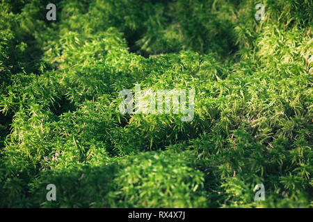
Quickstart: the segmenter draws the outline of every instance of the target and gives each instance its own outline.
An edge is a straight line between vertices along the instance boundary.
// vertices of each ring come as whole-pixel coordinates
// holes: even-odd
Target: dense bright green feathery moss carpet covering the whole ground
[[[312,207],[312,15],[312,0],[0,1],[0,207]],[[120,114],[136,83],[194,88],[193,121]]]

